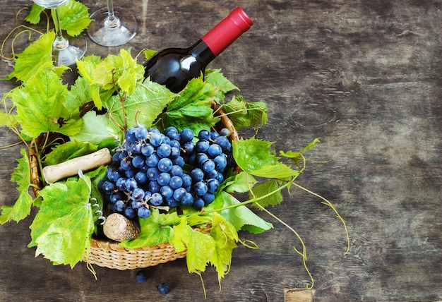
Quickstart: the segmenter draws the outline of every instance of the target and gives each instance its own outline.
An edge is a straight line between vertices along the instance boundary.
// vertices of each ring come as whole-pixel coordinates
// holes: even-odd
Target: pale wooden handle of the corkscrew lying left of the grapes
[[[78,170],[89,171],[112,162],[112,155],[107,148],[103,148],[88,155],[69,159],[60,164],[43,168],[43,178],[46,183],[54,183],[60,179],[74,176]]]

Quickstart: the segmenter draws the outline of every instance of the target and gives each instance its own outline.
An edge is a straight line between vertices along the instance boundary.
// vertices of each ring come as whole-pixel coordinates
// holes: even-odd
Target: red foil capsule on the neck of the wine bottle
[[[224,20],[205,34],[201,40],[207,44],[213,54],[217,56],[229,47],[244,32],[249,30],[253,21],[241,8],[236,8]]]

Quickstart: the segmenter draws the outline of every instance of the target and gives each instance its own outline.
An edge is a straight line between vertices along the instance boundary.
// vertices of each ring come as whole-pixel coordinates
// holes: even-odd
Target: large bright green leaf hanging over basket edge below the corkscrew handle
[[[52,183],[40,191],[43,202],[30,226],[32,241],[28,245],[37,246],[36,257],[42,254],[54,265],[71,267],[83,260],[94,231],[90,193],[88,176]]]

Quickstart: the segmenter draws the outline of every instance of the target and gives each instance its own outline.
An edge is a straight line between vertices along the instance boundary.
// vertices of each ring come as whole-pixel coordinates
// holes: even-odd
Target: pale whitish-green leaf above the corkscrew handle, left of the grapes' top
[[[89,111],[83,116],[83,127],[76,135],[72,135],[72,140],[80,140],[99,145],[104,140],[118,138],[117,133],[111,133],[109,127],[109,118],[105,115],[97,114],[95,111]]]

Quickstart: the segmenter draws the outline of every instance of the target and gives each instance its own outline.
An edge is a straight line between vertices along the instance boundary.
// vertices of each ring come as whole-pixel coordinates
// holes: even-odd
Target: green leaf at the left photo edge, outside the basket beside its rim
[[[32,206],[32,197],[28,193],[30,186],[30,166],[29,158],[24,148],[20,150],[23,156],[17,159],[18,165],[11,174],[11,181],[16,182],[18,187],[18,199],[13,206],[4,205],[1,207],[0,224],[4,224],[11,220],[19,222],[30,214]]]

